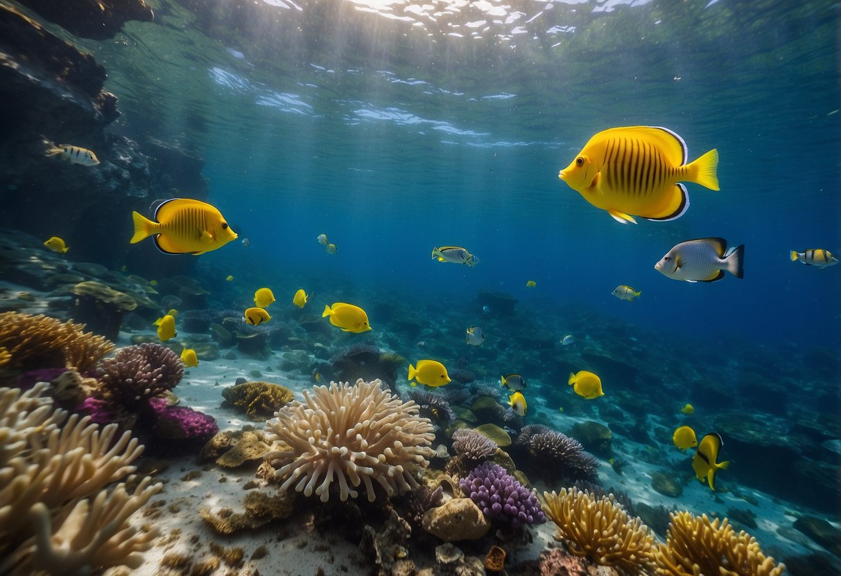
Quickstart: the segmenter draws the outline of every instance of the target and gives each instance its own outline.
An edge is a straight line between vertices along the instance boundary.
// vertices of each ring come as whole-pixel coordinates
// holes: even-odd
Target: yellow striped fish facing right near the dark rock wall
[[[161,202],[155,220],[132,212],[135,235],[131,243],[155,236],[157,249],[164,254],[204,254],[236,239],[225,217],[215,207],[189,198],[172,198]]]

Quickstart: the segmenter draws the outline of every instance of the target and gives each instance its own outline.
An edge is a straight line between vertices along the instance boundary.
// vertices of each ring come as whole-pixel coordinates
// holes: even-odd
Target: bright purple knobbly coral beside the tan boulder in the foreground
[[[537,496],[499,464],[480,464],[458,486],[489,518],[510,522],[515,527],[546,521]]]

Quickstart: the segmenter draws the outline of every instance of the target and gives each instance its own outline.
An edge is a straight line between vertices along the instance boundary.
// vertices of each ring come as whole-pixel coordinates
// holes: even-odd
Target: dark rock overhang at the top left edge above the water
[[[154,19],[152,9],[143,0],[21,0],[20,3],[68,32],[94,40],[114,38],[129,20],[151,22]]]

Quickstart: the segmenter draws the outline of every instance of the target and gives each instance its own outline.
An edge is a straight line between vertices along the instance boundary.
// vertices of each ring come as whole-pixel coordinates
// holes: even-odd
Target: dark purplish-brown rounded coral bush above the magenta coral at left
[[[184,375],[177,353],[156,343],[119,348],[99,369],[98,395],[129,411],[147,410],[148,401],[172,390]]]

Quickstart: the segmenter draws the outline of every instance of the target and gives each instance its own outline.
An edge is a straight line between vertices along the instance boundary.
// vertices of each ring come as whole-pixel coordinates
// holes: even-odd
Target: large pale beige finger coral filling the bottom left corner
[[[39,383],[0,388],[0,573],[89,573],[138,568],[156,531],[130,516],[161,490],[142,479],[124,484],[143,450],[130,432],[100,429],[88,417],[54,409]]]

